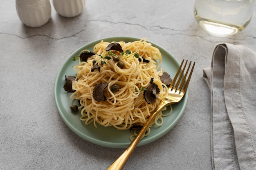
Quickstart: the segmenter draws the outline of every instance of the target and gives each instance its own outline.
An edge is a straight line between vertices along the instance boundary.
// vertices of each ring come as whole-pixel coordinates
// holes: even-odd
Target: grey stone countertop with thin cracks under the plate
[[[86,0],[83,13],[65,18],[52,7],[47,24],[22,24],[14,0],[0,0],[0,169],[104,170],[124,148],[90,143],[61,119],[54,82],[67,57],[105,37],[146,37],[177,61],[196,62],[180,121],[163,137],[135,149],[125,170],[211,169],[211,98],[202,69],[216,44],[256,50],[256,15],[237,35],[214,37],[195,21],[194,1]],[[255,14],[255,13],[254,13]]]

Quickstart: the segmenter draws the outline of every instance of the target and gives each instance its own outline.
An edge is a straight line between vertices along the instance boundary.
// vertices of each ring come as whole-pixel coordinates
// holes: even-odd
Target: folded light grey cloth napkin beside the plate
[[[256,52],[218,44],[211,68],[211,156],[216,170],[256,169]]]

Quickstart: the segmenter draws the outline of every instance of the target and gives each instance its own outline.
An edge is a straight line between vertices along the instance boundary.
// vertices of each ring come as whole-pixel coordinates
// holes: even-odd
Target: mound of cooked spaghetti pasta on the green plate
[[[77,76],[72,84],[75,92],[71,98],[80,101],[80,119],[85,124],[93,123],[95,127],[97,124],[114,126],[122,130],[130,129],[133,125],[143,126],[150,113],[167,95],[167,87],[159,77],[163,69],[158,71],[162,55],[159,49],[146,41],[146,38],[129,43],[118,42],[124,51],[128,51],[127,53],[106,51],[108,44],[110,43],[104,41],[96,44],[93,49],[95,55],[74,67]],[[119,62],[124,64],[123,68],[109,56],[118,56]],[[143,59],[148,62],[143,62]],[[99,69],[92,71],[94,65],[98,65]],[[150,85],[152,77],[153,83],[159,88],[159,95],[155,102],[149,104],[144,98],[143,91]],[[107,83],[104,90],[106,100],[103,101],[97,101],[93,97],[95,86],[99,83]],[[118,89],[112,92],[111,88],[114,85],[117,85]],[[160,112],[150,126],[161,126],[162,116],[168,114],[162,115]]]

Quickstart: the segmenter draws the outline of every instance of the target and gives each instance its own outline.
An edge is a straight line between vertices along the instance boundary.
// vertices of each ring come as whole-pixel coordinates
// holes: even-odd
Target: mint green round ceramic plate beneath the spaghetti
[[[73,67],[78,63],[78,61],[72,61],[73,57],[77,56],[77,53],[79,53],[81,50],[93,50],[94,45],[99,43],[101,40],[106,42],[132,42],[137,41],[139,39],[133,37],[110,37],[86,44],[85,46],[76,50],[63,63],[61,69],[59,70],[56,76],[56,81],[54,84],[54,98],[56,102],[56,107],[65,124],[67,124],[67,126],[81,138],[101,146],[112,148],[126,148],[130,144],[130,135],[132,135],[132,133],[130,133],[130,130],[117,130],[114,127],[103,127],[101,125],[98,125],[98,128],[95,128],[93,124],[84,125],[84,123],[81,122],[79,119],[79,112],[74,114],[70,110],[70,106],[73,103],[76,103],[76,101],[71,100],[71,93],[67,93],[63,89],[63,86],[65,84],[65,75],[76,76],[76,72],[73,70]],[[157,47],[162,53],[162,63],[160,65],[160,68],[164,68],[166,72],[168,72],[173,78],[175,76],[175,73],[177,72],[177,69],[179,68],[180,63],[178,63],[177,60],[169,52],[164,50],[164,48],[152,42],[150,43],[153,46]],[[173,111],[171,115],[163,118],[163,125],[153,126],[151,128],[150,134],[147,137],[141,139],[139,146],[153,142],[156,139],[159,139],[160,137],[165,135],[168,131],[170,131],[175,126],[175,124],[177,124],[177,122],[180,120],[186,107],[187,100],[188,92],[186,92],[181,102],[172,105]]]

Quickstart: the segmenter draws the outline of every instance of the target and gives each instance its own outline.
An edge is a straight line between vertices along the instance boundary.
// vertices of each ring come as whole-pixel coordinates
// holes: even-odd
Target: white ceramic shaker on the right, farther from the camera
[[[57,13],[63,17],[75,17],[83,12],[85,0],[52,0]]]

